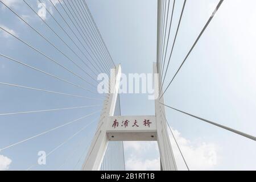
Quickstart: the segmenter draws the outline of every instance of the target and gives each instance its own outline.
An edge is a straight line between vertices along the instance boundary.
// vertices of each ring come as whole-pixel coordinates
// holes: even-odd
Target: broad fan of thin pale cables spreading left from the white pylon
[[[85,141],[88,140],[89,131],[92,131],[89,127],[94,127],[92,126],[93,122],[102,119],[99,119],[98,115],[100,115],[101,109],[105,109],[103,105],[104,95],[97,92],[97,84],[99,82],[97,76],[100,73],[110,75],[110,69],[115,68],[114,61],[85,1],[36,1],[36,3],[40,3],[46,10],[47,18],[44,18],[38,13],[38,9],[35,8],[35,2],[22,0],[19,3],[23,9],[26,9],[28,14],[33,16],[34,22],[20,14],[20,11],[15,9],[14,6],[11,6],[6,1],[0,0],[0,5],[5,8],[5,13],[8,13],[9,18],[13,18],[13,22],[18,22],[16,24],[22,26],[18,34],[16,34],[6,26],[3,26],[3,24],[0,24],[0,33],[5,34],[6,38],[13,40],[15,46],[18,47],[16,48],[16,54],[11,54],[9,50],[4,51],[5,49],[1,49],[0,61],[5,64],[13,64],[20,71],[23,71],[24,73],[20,74],[20,78],[26,75],[25,73],[28,71],[36,74],[35,77],[48,79],[49,82],[47,80],[43,84],[35,86],[36,84],[34,82],[26,82],[26,79],[23,79],[24,81],[20,84],[18,83],[20,78],[16,80],[12,79],[12,81],[2,81],[11,80],[7,77],[5,78],[4,75],[0,81],[1,90],[6,91],[5,93],[9,90],[14,90],[15,92],[21,91],[22,93],[27,93],[28,99],[30,96],[37,96],[38,98],[42,97],[44,101],[48,100],[48,98],[51,100],[52,97],[57,97],[61,98],[61,101],[57,102],[57,104],[60,103],[60,106],[52,100],[51,102],[42,101],[43,104],[47,103],[44,106],[40,106],[40,103],[35,103],[36,101],[28,101],[37,107],[24,110],[13,108],[12,110],[0,111],[0,127],[5,127],[3,123],[6,118],[19,118],[20,115],[30,117],[30,115],[41,114],[40,117],[42,117],[42,115],[47,114],[57,115],[60,112],[67,114],[73,111],[76,113],[76,116],[73,116],[74,119],[71,115],[71,119],[65,121],[66,119],[63,114],[63,118],[60,118],[61,121],[63,120],[62,123],[59,122],[57,124],[55,122],[48,123],[46,119],[47,127],[45,129],[40,130],[37,128],[28,130],[27,135],[24,135],[22,131],[18,131],[18,134],[20,133],[21,135],[17,134],[15,138],[11,138],[10,143],[5,143],[5,146],[0,145],[0,152],[2,154],[2,152],[16,150],[16,147],[22,146],[23,144],[32,144],[33,140],[38,140],[39,138],[40,140],[44,139],[44,144],[46,144],[49,143],[47,141],[49,134],[58,135],[57,131],[70,129],[68,130],[70,133],[69,138],[63,139],[66,137],[63,135],[68,135],[68,133],[57,136],[62,142],[47,151],[47,158],[50,155],[56,155],[61,148],[71,145],[71,142],[81,137],[78,139],[76,147],[71,150],[63,160],[63,163],[57,168],[62,169],[67,167],[73,156],[76,153],[80,154],[82,152],[75,166],[70,166],[73,169],[79,169],[77,167],[81,165],[81,161],[89,146],[89,142]],[[36,23],[40,25],[38,26]],[[28,39],[27,33],[31,33],[30,36],[32,39]],[[23,49],[19,50],[19,46],[26,48],[27,52],[20,51]],[[34,61],[31,61],[30,55],[34,56]],[[16,59],[15,56],[19,56],[19,58]],[[56,67],[57,71],[52,71],[51,67]],[[10,71],[15,72],[15,70]],[[31,75],[30,77],[33,76]],[[40,82],[42,80],[36,81]],[[59,86],[59,84],[61,85]],[[54,88],[51,88],[52,85]],[[9,104],[13,106],[17,105],[15,100],[11,100],[11,102]],[[55,106],[52,106],[52,103],[55,103]],[[3,102],[2,104],[5,103]],[[63,106],[61,104],[65,105]],[[20,120],[20,122],[24,122],[24,125],[26,125],[26,121]],[[27,127],[30,128],[30,126]],[[76,130],[75,127],[78,127],[79,130]],[[121,153],[120,147],[122,147],[122,143],[119,142],[110,144],[111,160],[115,160],[114,155],[117,152],[118,154],[120,153],[120,156],[123,154]],[[120,160],[123,161],[123,159]],[[117,161],[115,162],[118,163]],[[39,167],[36,161],[32,163],[34,164],[28,166],[27,169],[37,169]],[[112,165],[111,168],[118,169],[117,167]]]

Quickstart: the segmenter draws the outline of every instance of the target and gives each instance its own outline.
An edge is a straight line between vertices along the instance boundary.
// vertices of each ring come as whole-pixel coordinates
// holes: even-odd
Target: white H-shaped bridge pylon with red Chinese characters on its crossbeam
[[[158,73],[156,63],[153,65],[154,73]],[[154,76],[155,115],[114,116],[115,105],[118,97],[119,82],[121,79],[121,65],[115,68],[113,77],[113,92],[108,94],[104,101],[100,121],[90,145],[82,170],[100,170],[102,160],[109,141],[157,141],[160,154],[160,165],[164,171],[177,170],[174,153],[164,120],[165,112],[159,103],[159,77]],[[110,81],[110,82],[111,82]],[[111,84],[110,84],[111,85]]]

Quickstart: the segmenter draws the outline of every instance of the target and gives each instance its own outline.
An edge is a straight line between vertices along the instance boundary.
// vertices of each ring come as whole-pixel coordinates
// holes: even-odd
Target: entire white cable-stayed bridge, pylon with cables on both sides
[[[39,72],[40,74],[46,75],[47,77],[54,78],[60,82],[64,82],[65,84],[72,85],[76,88],[84,90],[88,93],[86,96],[66,93],[66,92],[57,92],[55,90],[47,90],[43,88],[34,88],[26,85],[18,85],[9,82],[0,82],[1,86],[7,86],[11,88],[18,88],[24,90],[32,90],[34,92],[43,92],[47,94],[56,94],[67,97],[75,97],[81,98],[85,100],[93,100],[101,102],[100,104],[94,103],[93,105],[86,106],[75,106],[75,107],[63,107],[63,108],[55,108],[55,109],[44,109],[44,110],[27,110],[27,111],[17,111],[13,113],[2,113],[1,117],[8,117],[11,115],[20,115],[20,114],[31,114],[31,113],[48,113],[55,111],[66,111],[73,109],[85,109],[91,107],[101,107],[101,109],[94,110],[92,113],[86,114],[83,117],[77,118],[75,120],[66,122],[59,126],[49,128],[46,131],[42,131],[38,134],[31,135],[30,137],[20,139],[14,143],[9,143],[6,146],[0,146],[0,154],[7,150],[11,150],[15,146],[20,146],[23,143],[27,143],[30,140],[34,140],[36,138],[42,137],[48,133],[52,133],[52,131],[59,130],[65,126],[69,126],[73,123],[81,121],[83,119],[88,119],[86,125],[84,125],[81,129],[79,129],[75,134],[71,135],[68,139],[61,142],[55,148],[52,148],[51,151],[47,152],[45,158],[48,158],[52,155],[56,150],[58,150],[61,146],[69,142],[76,135],[81,133],[89,133],[89,131],[85,131],[88,129],[92,123],[97,123],[96,131],[93,133],[93,139],[85,148],[82,155],[79,157],[79,160],[76,162],[76,167],[80,166],[79,169],[82,170],[124,170],[125,169],[125,159],[123,154],[123,141],[157,141],[159,147],[160,154],[160,167],[162,170],[177,170],[176,161],[174,152],[172,151],[172,146],[174,144],[179,148],[179,152],[184,160],[185,166],[189,170],[189,165],[185,160],[185,156],[179,147],[179,143],[175,139],[175,135],[172,131],[170,124],[166,119],[166,108],[176,110],[179,113],[183,113],[185,115],[189,115],[190,117],[199,119],[199,121],[206,122],[209,125],[220,127],[223,130],[232,132],[234,134],[241,135],[250,140],[256,140],[256,137],[253,135],[249,135],[243,133],[242,131],[238,131],[232,129],[228,126],[220,125],[217,122],[209,121],[208,119],[204,119],[201,117],[197,117],[196,115],[187,113],[185,111],[176,109],[168,104],[164,103],[164,94],[170,88],[172,82],[175,80],[176,75],[179,74],[180,69],[183,67],[185,61],[187,61],[190,53],[195,48],[196,44],[199,42],[201,36],[204,34],[204,31],[207,29],[208,25],[214,18],[214,15],[220,9],[224,0],[221,0],[217,3],[216,8],[214,9],[212,15],[210,15],[208,21],[205,23],[205,26],[201,30],[200,34],[197,36],[197,39],[193,43],[191,49],[187,55],[185,55],[183,62],[180,64],[180,67],[175,72],[175,75],[171,78],[167,77],[167,71],[170,67],[170,60],[172,57],[172,52],[175,47],[175,42],[177,38],[177,34],[179,32],[179,27],[182,22],[183,13],[185,10],[187,0],[184,0],[183,8],[181,10],[179,16],[179,22],[176,28],[174,42],[171,44],[170,42],[170,31],[172,27],[172,18],[175,13],[175,0],[158,0],[158,22],[157,22],[157,45],[156,45],[156,63],[152,65],[152,72],[157,76],[154,78],[154,89],[155,89],[155,115],[130,115],[125,116],[121,114],[120,101],[119,101],[119,82],[121,78],[121,65],[117,65],[114,63],[112,56],[106,47],[104,39],[102,38],[100,31],[97,27],[96,22],[94,22],[93,16],[90,13],[89,7],[86,4],[85,0],[57,0],[52,1],[51,7],[55,10],[56,14],[58,14],[59,18],[52,13],[45,3],[39,0],[41,3],[41,7],[49,14],[50,18],[55,22],[55,26],[59,27],[59,31],[61,31],[61,36],[59,32],[51,26],[51,24],[47,23],[47,21],[40,16],[33,6],[30,5],[26,0],[23,0],[25,6],[28,7],[31,11],[33,11],[38,19],[42,21],[42,23],[48,28],[48,31],[56,36],[57,39],[61,43],[64,44],[65,48],[73,53],[73,57],[69,56],[67,52],[63,51],[61,47],[57,46],[55,42],[52,42],[51,39],[48,39],[42,32],[40,32],[36,27],[34,27],[30,22],[28,22],[22,15],[19,15],[13,7],[9,6],[3,0],[0,0],[0,4],[4,6],[10,13],[13,13],[20,22],[30,28],[31,31],[34,31],[37,36],[43,39],[45,43],[47,43],[51,48],[58,52],[60,55],[64,56],[70,64],[73,65],[73,68],[69,68],[64,65],[60,60],[53,58],[47,52],[42,51],[40,48],[36,48],[34,44],[28,43],[26,40],[23,40],[19,36],[15,35],[12,31],[8,30],[6,27],[0,24],[0,31],[4,32],[6,35],[13,38],[15,41],[22,43],[24,46],[31,49],[31,51],[38,53],[38,55],[44,57],[45,60],[51,62],[52,64],[57,65],[65,72],[68,72],[73,77],[79,79],[81,82],[86,84],[86,86],[82,86],[77,84],[76,82],[69,81],[66,78],[57,76],[53,73],[49,73],[46,70],[34,67],[30,64],[25,63],[22,60],[14,59],[8,55],[0,53],[1,60],[11,61],[13,63],[19,64],[22,67],[26,67],[27,69],[31,69],[35,72]],[[65,25],[63,26],[62,23]],[[73,49],[70,44],[72,43]],[[171,46],[170,54],[167,53],[167,48]],[[86,60],[86,61],[85,61]],[[79,63],[79,64],[78,64]],[[83,66],[81,66],[83,65]],[[110,70],[114,69],[114,74],[110,74]],[[79,72],[79,73],[77,73]],[[79,71],[78,71],[79,70]],[[83,73],[84,76],[81,76]],[[96,94],[93,90],[96,88],[98,84],[97,75],[99,73],[107,73],[110,76],[110,82],[114,83],[114,92],[107,93],[105,96],[99,96],[98,98],[93,97],[93,94]],[[112,76],[112,77],[111,77]],[[168,82],[167,87],[164,88],[164,83]],[[111,84],[110,84],[111,85]],[[93,88],[93,89],[92,89]],[[94,95],[95,96],[95,95]],[[98,103],[97,102],[97,103]],[[90,118],[93,115],[100,113],[99,117],[94,119]],[[87,120],[86,120],[87,121]],[[169,133],[174,137],[175,143],[170,142]],[[86,139],[86,137],[84,137]],[[78,146],[84,145],[84,140],[81,140]],[[67,156],[68,159],[76,152],[76,147],[73,148],[71,154]],[[61,167],[67,160],[64,160]],[[34,169],[38,164],[32,164],[27,169]],[[76,167],[74,169],[76,169]],[[58,169],[59,169],[58,168]]]

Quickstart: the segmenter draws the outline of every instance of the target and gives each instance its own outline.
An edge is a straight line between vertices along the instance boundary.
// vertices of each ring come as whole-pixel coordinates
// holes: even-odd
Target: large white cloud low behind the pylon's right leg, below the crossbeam
[[[213,143],[191,142],[181,137],[177,130],[173,130],[177,143],[191,170],[208,170],[217,165],[217,147]],[[183,159],[170,134],[177,168],[186,170]],[[156,142],[125,142],[127,170],[160,170],[158,144]],[[158,154],[158,155],[157,155]]]

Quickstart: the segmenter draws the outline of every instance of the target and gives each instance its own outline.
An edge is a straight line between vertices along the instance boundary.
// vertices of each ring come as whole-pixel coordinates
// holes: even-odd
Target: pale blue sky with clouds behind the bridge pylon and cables
[[[44,32],[44,36],[65,50],[65,53],[72,59],[79,61],[78,57],[60,42],[23,1],[3,2],[22,15],[37,30]],[[38,10],[35,1],[27,2]],[[114,62],[121,64],[122,72],[126,74],[152,73],[152,63],[156,61],[157,1],[86,0],[86,3]],[[217,3],[216,0],[187,1],[164,88],[179,68]],[[59,4],[56,5],[60,7]],[[174,40],[182,5],[183,1],[176,1],[170,44]],[[255,5],[256,2],[253,0],[225,0],[222,3],[221,8],[164,95],[164,102],[167,105],[244,133],[256,135],[254,51],[256,13],[253,9]],[[51,7],[51,4],[46,2],[46,6],[52,9],[53,15],[57,16],[57,12]],[[90,77],[75,67],[67,57],[57,52],[2,5],[0,15],[1,27],[46,52],[65,67],[83,75],[86,80],[90,80]],[[56,28],[59,36],[64,37],[65,41],[72,44],[49,15],[46,14],[46,17],[43,18]],[[61,17],[57,16],[57,18],[61,20]],[[64,24],[64,22],[62,23]],[[65,24],[64,27],[68,30]],[[70,33],[72,34],[72,32]],[[3,31],[0,31],[0,40],[4,43],[0,44],[1,54],[90,88],[90,85],[80,78],[64,71]],[[75,45],[72,44],[72,47],[79,52]],[[170,48],[168,48],[168,52],[170,52]],[[83,56],[81,53],[79,55]],[[3,57],[0,57],[0,61],[0,82],[103,98],[42,75],[42,73],[31,71],[31,69],[24,68]],[[79,65],[82,63],[79,62]],[[85,65],[82,66],[90,74],[93,74],[92,70],[86,68]],[[121,94],[120,101],[122,115],[155,114],[154,101],[148,100],[147,94]],[[101,101],[98,100],[38,93],[6,85],[0,85],[0,102],[0,113],[101,104]],[[98,110],[101,110],[100,106],[49,113],[0,116],[0,148]],[[256,169],[254,152],[256,143],[252,140],[168,108],[166,108],[166,113],[190,169]],[[92,115],[76,124],[1,151],[0,169],[27,169],[36,163],[39,150],[51,151],[97,117],[98,114]],[[70,166],[79,169],[80,158],[86,150],[85,144],[81,145],[80,143],[89,144],[89,140],[83,139],[85,137],[92,138],[94,130],[90,129],[95,129],[96,125],[97,122],[92,123],[92,126],[85,129],[86,132],[78,134],[72,141],[52,153],[46,166],[34,166],[32,169],[56,169],[60,166],[62,166],[61,169],[70,169]],[[172,137],[170,138],[177,167],[185,170],[175,142]],[[74,147],[78,148],[76,155],[72,156],[72,160],[68,159],[63,164],[63,158],[66,158]],[[126,169],[160,169],[156,142],[125,142],[125,159]],[[78,162],[79,164],[77,164]]]

